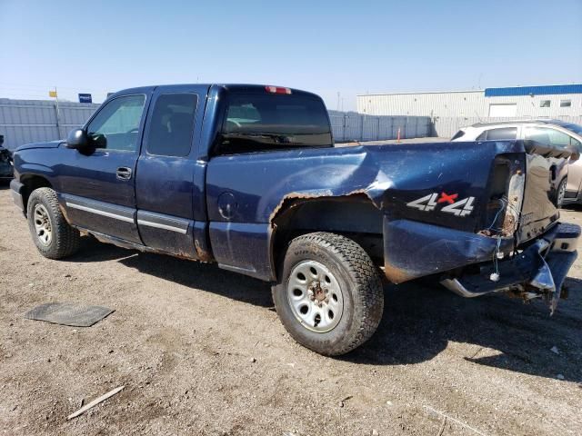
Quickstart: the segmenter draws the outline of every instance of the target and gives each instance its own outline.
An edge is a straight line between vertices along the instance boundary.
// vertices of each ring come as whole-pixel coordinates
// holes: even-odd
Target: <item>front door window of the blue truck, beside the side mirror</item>
[[[135,152],[146,95],[125,95],[105,104],[87,126],[95,148]]]

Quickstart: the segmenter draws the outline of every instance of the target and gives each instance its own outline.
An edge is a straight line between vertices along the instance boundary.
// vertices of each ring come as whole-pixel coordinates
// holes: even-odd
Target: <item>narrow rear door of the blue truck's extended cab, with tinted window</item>
[[[203,194],[196,189],[196,140],[202,127],[206,86],[156,88],[137,163],[137,225],[143,243],[197,259],[197,238],[206,238]],[[204,174],[200,177],[204,183]],[[204,246],[204,244],[203,244]]]

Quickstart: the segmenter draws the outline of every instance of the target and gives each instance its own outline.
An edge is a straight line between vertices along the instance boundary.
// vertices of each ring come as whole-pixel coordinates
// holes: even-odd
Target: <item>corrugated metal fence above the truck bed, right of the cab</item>
[[[378,141],[430,136],[428,116],[376,116],[356,112],[329,111],[334,139],[342,141]]]

